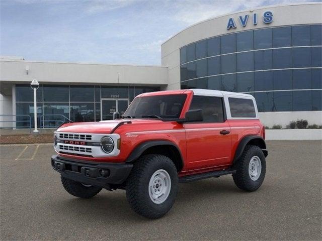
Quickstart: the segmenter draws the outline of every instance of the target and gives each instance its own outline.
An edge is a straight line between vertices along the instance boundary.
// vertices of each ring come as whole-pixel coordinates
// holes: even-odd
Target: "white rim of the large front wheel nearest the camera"
[[[156,204],[167,200],[171,190],[171,178],[164,169],[154,172],[149,182],[149,196],[152,202]]]

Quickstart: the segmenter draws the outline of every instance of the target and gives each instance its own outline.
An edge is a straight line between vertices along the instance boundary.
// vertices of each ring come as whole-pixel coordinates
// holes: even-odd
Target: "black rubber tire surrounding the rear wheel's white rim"
[[[250,161],[250,156],[252,153],[260,152],[258,155],[262,162],[262,171],[261,176],[256,181],[258,185],[254,185],[254,181],[252,181],[249,177],[248,173],[248,165]],[[262,149],[255,145],[247,145],[241,157],[234,164],[234,168],[236,169],[236,173],[232,174],[233,181],[235,185],[245,191],[255,191],[262,185],[262,182],[265,178],[266,173],[266,161],[265,156]]]

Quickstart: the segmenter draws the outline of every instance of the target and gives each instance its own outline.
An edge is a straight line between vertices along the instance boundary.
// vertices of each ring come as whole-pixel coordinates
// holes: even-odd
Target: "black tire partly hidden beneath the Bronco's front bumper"
[[[64,178],[63,176],[60,176],[60,178],[62,186],[65,188],[65,190],[75,197],[91,198],[102,190],[100,187],[85,185],[80,182],[75,182],[73,180]]]

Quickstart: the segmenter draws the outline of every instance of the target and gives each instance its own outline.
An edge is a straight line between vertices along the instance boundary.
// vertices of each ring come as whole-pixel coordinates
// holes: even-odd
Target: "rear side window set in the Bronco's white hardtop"
[[[252,99],[228,98],[231,117],[256,117]]]

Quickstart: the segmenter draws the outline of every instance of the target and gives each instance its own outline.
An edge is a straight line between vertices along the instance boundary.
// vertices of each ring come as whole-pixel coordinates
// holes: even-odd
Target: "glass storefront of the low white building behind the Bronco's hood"
[[[136,95],[159,90],[159,87],[147,86],[40,85],[37,89],[37,125],[55,128],[67,121],[67,118],[73,122],[98,122],[101,121],[101,116],[103,119],[111,119],[113,113],[110,111],[114,108],[107,109],[106,99],[117,103],[119,111],[124,112]],[[32,127],[33,101],[30,85],[17,84],[16,114],[30,115]],[[29,127],[28,116],[17,116],[17,121],[23,121],[17,122],[17,128]]]

